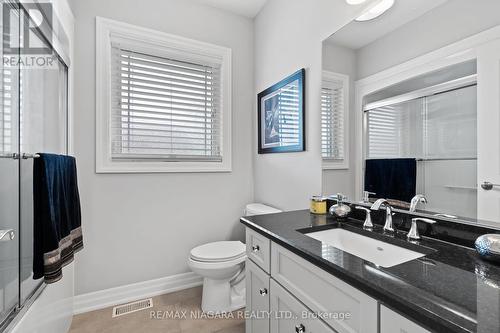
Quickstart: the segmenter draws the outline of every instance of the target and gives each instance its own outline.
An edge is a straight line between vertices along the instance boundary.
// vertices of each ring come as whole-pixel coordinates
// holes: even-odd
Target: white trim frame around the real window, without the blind
[[[113,161],[111,159],[111,36],[161,56],[185,52],[197,59],[221,63],[222,162]],[[230,172],[231,169],[231,49],[96,17],[96,172]]]

